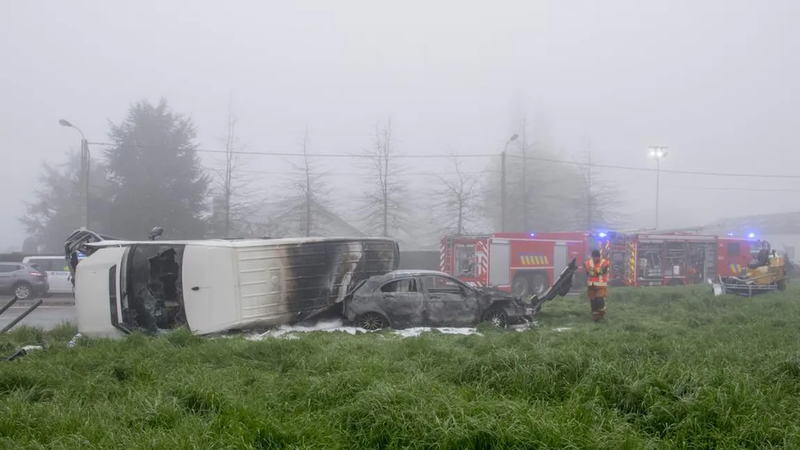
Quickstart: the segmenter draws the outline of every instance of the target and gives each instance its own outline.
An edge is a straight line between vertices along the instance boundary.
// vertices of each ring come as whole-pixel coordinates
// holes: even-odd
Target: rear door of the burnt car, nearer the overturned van
[[[380,308],[395,327],[425,325],[425,296],[416,277],[404,277],[383,284],[375,292]]]

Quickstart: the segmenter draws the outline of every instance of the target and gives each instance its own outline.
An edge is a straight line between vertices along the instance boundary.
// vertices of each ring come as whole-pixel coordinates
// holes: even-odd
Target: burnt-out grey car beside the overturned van
[[[510,294],[476,289],[434,270],[395,270],[363,281],[344,301],[343,313],[367,330],[416,326],[498,328],[524,323],[533,309]]]

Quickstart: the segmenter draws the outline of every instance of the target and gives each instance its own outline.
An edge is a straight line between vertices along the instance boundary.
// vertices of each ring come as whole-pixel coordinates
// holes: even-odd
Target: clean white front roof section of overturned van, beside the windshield
[[[236,249],[186,245],[182,258],[183,307],[194,333],[218,333],[240,322]]]

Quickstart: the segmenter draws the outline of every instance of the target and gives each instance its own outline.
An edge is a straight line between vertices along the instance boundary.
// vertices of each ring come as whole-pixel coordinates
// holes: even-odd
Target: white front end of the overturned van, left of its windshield
[[[86,336],[118,337],[122,331],[111,323],[111,304],[114,297],[113,313],[119,311],[119,271],[126,249],[110,247],[100,249],[79,264],[75,284],[75,309],[78,313],[78,331]],[[110,271],[114,269],[114,276]],[[110,285],[116,280],[116,285]],[[117,316],[118,317],[118,316]]]

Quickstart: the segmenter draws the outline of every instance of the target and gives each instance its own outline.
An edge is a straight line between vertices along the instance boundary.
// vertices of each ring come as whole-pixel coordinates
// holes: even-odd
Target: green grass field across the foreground
[[[0,349],[0,448],[800,448],[800,290],[612,289],[484,336],[190,333]],[[556,331],[559,327],[572,327]]]

